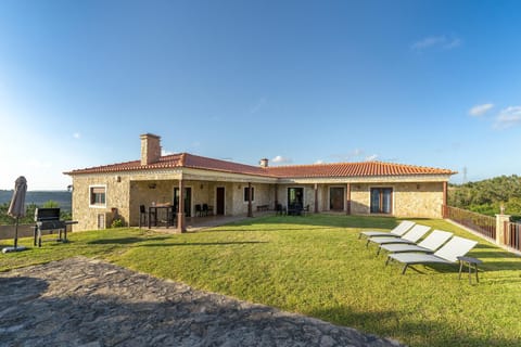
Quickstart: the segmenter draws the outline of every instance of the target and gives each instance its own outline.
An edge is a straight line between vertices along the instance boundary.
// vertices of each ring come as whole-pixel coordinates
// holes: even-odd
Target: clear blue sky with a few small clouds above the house
[[[0,189],[165,153],[520,175],[519,1],[0,1]]]

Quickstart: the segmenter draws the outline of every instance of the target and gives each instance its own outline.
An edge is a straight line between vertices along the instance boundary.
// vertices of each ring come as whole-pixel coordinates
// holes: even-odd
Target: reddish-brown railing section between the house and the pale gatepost
[[[486,237],[496,240],[496,218],[494,217],[446,205],[443,206],[443,217],[470,228]]]

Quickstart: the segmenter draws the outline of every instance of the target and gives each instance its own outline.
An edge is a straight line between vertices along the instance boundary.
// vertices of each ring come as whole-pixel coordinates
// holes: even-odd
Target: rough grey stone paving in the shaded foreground
[[[401,346],[77,257],[0,273],[1,346]]]

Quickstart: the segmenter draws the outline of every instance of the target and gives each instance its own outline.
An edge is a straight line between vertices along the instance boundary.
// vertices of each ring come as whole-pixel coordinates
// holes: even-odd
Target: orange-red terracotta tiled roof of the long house
[[[141,165],[140,160],[76,169],[66,175],[102,174],[165,168],[195,168],[231,174],[265,176],[272,178],[331,178],[410,175],[453,175],[448,169],[430,168],[382,162],[334,163],[315,165],[274,166],[263,168],[233,162],[208,158],[189,153],[162,156],[157,163]]]

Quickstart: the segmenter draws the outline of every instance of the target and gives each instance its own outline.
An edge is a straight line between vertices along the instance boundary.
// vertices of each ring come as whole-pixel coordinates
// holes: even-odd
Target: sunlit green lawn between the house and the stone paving
[[[402,275],[357,240],[361,228],[391,229],[397,220],[327,215],[255,218],[176,235],[73,233],[68,244],[2,255],[0,270],[84,255],[412,346],[519,346],[521,258],[444,220],[416,221],[478,240],[470,256],[484,260],[480,283],[458,281],[457,266],[415,266]]]

